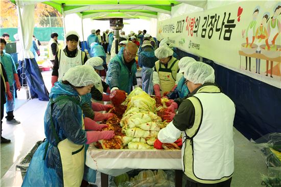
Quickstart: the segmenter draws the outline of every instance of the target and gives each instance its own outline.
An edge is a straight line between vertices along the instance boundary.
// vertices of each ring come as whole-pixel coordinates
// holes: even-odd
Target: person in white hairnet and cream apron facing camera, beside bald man
[[[153,72],[153,88],[156,97],[163,93],[173,91],[182,77],[179,72],[178,60],[173,57],[173,50],[168,46],[161,46],[155,50],[155,56],[159,59],[155,62]]]

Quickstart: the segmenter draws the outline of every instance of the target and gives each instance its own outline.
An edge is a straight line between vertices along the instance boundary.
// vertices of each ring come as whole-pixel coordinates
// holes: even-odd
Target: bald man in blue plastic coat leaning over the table
[[[118,55],[113,57],[108,64],[106,83],[111,91],[121,89],[128,94],[132,86],[138,87],[136,82],[135,57],[137,45],[129,42],[125,48],[121,49]]]

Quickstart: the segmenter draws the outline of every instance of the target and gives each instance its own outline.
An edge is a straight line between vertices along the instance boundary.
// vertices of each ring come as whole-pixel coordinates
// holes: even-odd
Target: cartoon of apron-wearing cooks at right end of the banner
[[[255,73],[261,74],[262,65],[266,66],[266,71],[262,74],[271,78],[279,79],[281,76],[280,53],[281,45],[275,44],[276,38],[280,33],[280,20],[277,18],[281,13],[281,3],[277,3],[270,17],[269,12],[262,14],[260,24],[257,18],[261,15],[261,7],[256,6],[253,10],[252,21],[246,31],[242,30],[242,38],[246,33],[246,43],[242,43],[239,55],[245,56],[246,67],[251,72],[251,57],[255,58]],[[270,61],[270,68],[269,68]],[[249,63],[248,63],[249,62]],[[244,68],[240,63],[240,68]],[[273,77],[274,76],[274,77]]]

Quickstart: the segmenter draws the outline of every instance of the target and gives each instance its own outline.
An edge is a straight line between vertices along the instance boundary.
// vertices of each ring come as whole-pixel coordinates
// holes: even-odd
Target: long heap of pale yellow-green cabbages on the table
[[[156,103],[145,91],[134,89],[123,103],[127,110],[120,122],[123,145],[128,149],[153,149],[160,129],[166,126],[156,114]]]

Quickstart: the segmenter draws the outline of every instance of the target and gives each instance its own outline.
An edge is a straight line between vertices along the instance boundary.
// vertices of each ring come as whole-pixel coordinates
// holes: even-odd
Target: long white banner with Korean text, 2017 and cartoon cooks
[[[158,21],[157,39],[281,88],[281,3],[239,2]]]

